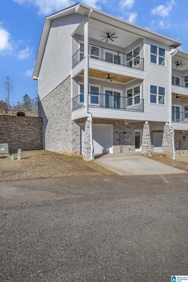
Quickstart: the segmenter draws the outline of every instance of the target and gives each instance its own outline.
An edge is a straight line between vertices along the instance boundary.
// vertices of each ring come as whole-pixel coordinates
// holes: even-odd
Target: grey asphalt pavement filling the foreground
[[[188,174],[0,182],[0,281],[188,273]]]

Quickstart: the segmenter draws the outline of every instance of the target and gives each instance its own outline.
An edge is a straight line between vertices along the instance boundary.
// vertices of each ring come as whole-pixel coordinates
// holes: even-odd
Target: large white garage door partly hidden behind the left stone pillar
[[[80,124],[80,152],[83,154],[85,124]],[[92,124],[95,154],[111,153],[111,125]]]

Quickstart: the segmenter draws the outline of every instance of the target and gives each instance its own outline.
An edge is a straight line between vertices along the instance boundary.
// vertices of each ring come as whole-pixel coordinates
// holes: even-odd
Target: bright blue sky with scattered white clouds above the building
[[[5,100],[6,76],[12,79],[16,102],[27,93],[35,98],[37,81],[32,80],[45,16],[77,3],[70,0],[1,0],[0,9],[0,100]],[[186,0],[85,0],[100,9],[139,26],[182,41],[188,51]]]

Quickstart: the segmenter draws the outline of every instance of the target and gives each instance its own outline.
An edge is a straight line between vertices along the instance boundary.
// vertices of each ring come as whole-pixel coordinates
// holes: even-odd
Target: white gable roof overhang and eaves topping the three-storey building
[[[167,36],[163,36],[159,33],[156,33],[154,31],[150,31],[146,28],[137,26],[135,24],[129,23],[125,20],[119,19],[115,16],[112,16],[110,14],[107,14],[103,11],[99,11],[97,9],[94,9],[90,6],[87,6],[85,4],[82,3],[78,3],[75,4],[73,6],[70,6],[66,9],[63,9],[62,11],[59,11],[55,14],[52,14],[50,16],[47,16],[45,18],[45,22],[44,22],[44,26],[43,26],[43,31],[42,31],[42,35],[41,35],[41,40],[40,40],[40,44],[39,44],[39,48],[38,48],[38,53],[37,53],[37,58],[36,58],[36,63],[35,63],[35,68],[34,68],[34,72],[33,72],[33,77],[32,79],[38,79],[38,74],[41,68],[41,63],[42,63],[42,59],[43,59],[43,55],[44,55],[44,51],[46,48],[46,42],[48,39],[48,34],[50,31],[50,27],[51,27],[51,22],[55,19],[59,19],[62,18],[64,16],[69,16],[71,14],[83,14],[85,16],[88,16],[90,13],[90,10],[92,9],[92,14],[91,14],[91,19],[94,19],[96,21],[100,21],[100,22],[105,22],[106,24],[109,25],[114,25],[117,26],[118,28],[122,29],[122,30],[126,30],[132,34],[138,35],[140,37],[143,38],[150,38],[154,41],[166,44],[168,46],[171,47],[178,47],[182,44],[182,42],[174,40],[172,38],[169,38]]]

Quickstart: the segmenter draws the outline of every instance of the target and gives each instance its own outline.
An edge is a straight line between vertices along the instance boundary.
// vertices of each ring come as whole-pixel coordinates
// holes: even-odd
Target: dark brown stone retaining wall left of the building
[[[0,115],[0,143],[8,143],[9,150],[42,149],[41,117]]]

